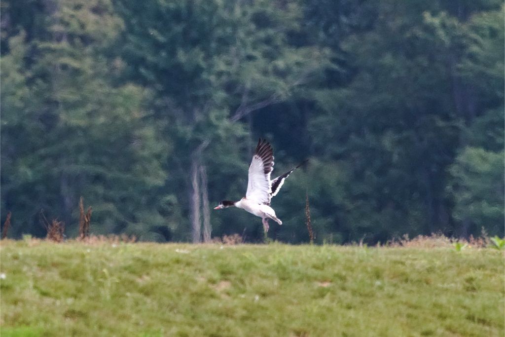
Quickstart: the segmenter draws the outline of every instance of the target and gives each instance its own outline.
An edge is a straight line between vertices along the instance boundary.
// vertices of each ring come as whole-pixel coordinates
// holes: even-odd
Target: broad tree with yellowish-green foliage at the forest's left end
[[[9,205],[17,214],[17,235],[41,231],[40,209],[73,222],[75,233],[83,196],[93,205],[95,232],[140,236],[164,223],[150,191],[166,178],[160,161],[169,147],[146,119],[149,92],[115,86],[114,62],[97,54],[120,27],[110,6],[62,6],[44,28],[63,37],[25,45],[21,33],[2,58],[12,65],[2,69],[2,210]],[[149,215],[140,218],[140,211]]]

